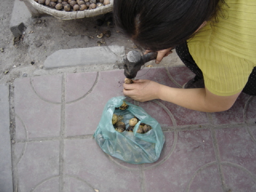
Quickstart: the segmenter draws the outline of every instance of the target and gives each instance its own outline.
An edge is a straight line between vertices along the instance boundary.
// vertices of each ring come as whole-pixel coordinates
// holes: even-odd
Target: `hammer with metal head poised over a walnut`
[[[138,51],[130,51],[124,61],[124,75],[126,78],[136,77],[141,66],[146,62],[156,59],[157,52],[149,52],[145,55],[140,55]]]

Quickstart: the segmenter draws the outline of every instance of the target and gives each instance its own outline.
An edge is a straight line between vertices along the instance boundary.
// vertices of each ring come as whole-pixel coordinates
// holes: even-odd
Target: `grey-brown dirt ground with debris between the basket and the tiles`
[[[9,27],[13,4],[14,0],[1,0],[0,3],[0,49],[3,51],[0,51],[0,84],[12,84],[15,78],[22,76],[117,68],[114,65],[102,65],[45,70],[45,59],[61,49],[94,47],[101,41],[106,43],[101,46],[118,45],[125,46],[127,52],[134,50],[134,44],[111,25],[109,15],[76,20],[61,20],[49,15],[31,17],[24,21],[26,28],[23,35],[14,38]],[[105,21],[102,26],[99,26],[99,19]],[[97,35],[106,30],[111,31],[111,36],[99,39]]]

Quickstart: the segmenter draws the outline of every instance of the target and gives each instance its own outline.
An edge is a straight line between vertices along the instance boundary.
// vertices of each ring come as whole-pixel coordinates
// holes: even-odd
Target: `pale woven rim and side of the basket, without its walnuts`
[[[58,10],[52,9],[49,6],[38,4],[34,0],[23,0],[23,1],[28,2],[30,6],[36,9],[39,13],[42,13],[42,14],[46,13],[46,14],[52,15],[55,18],[59,18],[62,20],[94,17],[97,15],[101,15],[101,14],[105,14],[113,11],[113,0],[110,0],[110,4],[97,7],[96,9],[93,9],[93,10],[70,11],[70,12],[58,11]]]

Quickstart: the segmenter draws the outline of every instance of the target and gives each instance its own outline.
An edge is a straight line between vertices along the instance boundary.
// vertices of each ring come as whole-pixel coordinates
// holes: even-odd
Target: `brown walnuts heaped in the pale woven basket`
[[[50,6],[53,9],[62,11],[84,11],[110,4],[110,0],[34,0],[35,2]]]

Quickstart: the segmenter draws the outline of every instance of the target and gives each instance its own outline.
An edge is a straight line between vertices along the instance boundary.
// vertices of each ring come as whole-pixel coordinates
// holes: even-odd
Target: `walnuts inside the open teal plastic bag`
[[[123,101],[123,104],[119,109],[125,110],[127,109],[128,105]],[[126,128],[125,123],[122,122],[123,117],[120,115],[113,114],[112,117],[112,124],[115,127],[115,130],[122,133],[124,131],[133,132],[134,126],[140,121],[137,117],[131,118],[129,120],[129,126]],[[152,127],[150,125],[147,125],[145,123],[140,123],[137,133],[147,133],[150,131]]]

